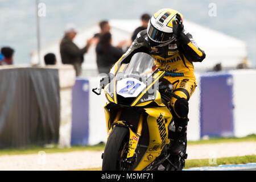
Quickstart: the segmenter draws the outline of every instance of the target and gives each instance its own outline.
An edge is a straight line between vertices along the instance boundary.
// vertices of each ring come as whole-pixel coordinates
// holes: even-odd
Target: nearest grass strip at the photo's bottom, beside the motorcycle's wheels
[[[204,166],[219,166],[224,164],[246,164],[246,163],[255,163],[256,155],[245,155],[238,157],[230,157],[230,158],[217,158],[216,164],[212,164],[213,160],[209,159],[191,159],[186,160],[184,169],[188,169],[191,167],[204,167]],[[87,168],[87,169],[75,169],[73,171],[101,171],[101,167],[98,168]]]

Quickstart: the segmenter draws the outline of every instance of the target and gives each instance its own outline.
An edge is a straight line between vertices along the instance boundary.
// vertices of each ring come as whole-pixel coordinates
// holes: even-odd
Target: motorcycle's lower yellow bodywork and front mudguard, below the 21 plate
[[[141,113],[141,117],[134,118],[132,124],[138,123],[138,125],[133,127],[130,125],[130,119],[127,119],[125,114],[121,114],[126,112],[124,109],[126,107],[112,107],[113,103],[106,104],[104,107],[108,135],[113,127],[127,127],[129,129],[127,159],[135,160],[133,158],[137,158],[138,162],[135,165],[137,167],[134,170],[143,170],[161,154],[166,144],[170,144],[168,125],[172,121],[172,114],[167,107],[144,107],[142,111],[138,111],[138,113]],[[117,111],[118,109],[119,111]],[[112,120],[111,115],[114,116]],[[145,115],[145,117],[142,117],[142,115]],[[145,134],[147,132],[148,134]],[[143,138],[144,142],[141,141]],[[141,150],[141,146],[146,146],[146,148]],[[140,150],[140,156],[136,155],[138,154],[138,149]]]

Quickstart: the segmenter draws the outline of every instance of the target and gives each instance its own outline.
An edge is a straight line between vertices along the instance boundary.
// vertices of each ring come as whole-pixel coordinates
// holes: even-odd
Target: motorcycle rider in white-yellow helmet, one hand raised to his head
[[[205,59],[189,32],[184,30],[183,15],[172,9],[157,11],[148,22],[147,30],[138,33],[127,52],[115,63],[110,73],[117,73],[121,64],[129,63],[137,52],[146,52],[155,59],[157,68],[166,71],[164,78],[174,85],[172,97],[175,140],[170,152],[179,154],[187,140],[188,101],[196,88],[193,62]]]

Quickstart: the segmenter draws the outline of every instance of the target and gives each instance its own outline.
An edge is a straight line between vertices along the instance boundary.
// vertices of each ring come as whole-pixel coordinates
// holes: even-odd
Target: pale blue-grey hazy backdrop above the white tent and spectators
[[[0,47],[15,49],[15,64],[29,63],[36,49],[36,1],[0,0]],[[162,8],[180,11],[184,19],[224,32],[247,43],[249,60],[256,67],[256,1],[198,0],[42,0],[40,17],[42,46],[60,39],[67,23],[86,27],[102,19],[139,19]],[[214,7],[214,14],[212,12]],[[210,13],[210,15],[209,15]],[[213,16],[214,15],[214,16]]]

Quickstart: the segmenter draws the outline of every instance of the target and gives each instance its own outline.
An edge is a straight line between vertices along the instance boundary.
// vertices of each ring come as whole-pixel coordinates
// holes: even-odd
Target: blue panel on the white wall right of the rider
[[[233,137],[233,76],[201,75],[200,137]]]

